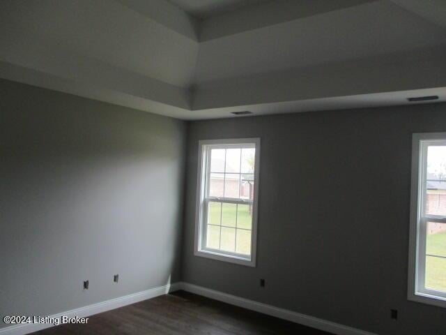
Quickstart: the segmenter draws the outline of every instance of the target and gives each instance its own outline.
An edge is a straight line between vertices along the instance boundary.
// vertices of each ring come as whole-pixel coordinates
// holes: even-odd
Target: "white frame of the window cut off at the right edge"
[[[446,223],[446,216],[424,214],[427,148],[431,145],[446,145],[446,133],[415,133],[412,141],[408,299],[446,307],[446,292],[429,290],[424,285],[426,224],[428,221]]]

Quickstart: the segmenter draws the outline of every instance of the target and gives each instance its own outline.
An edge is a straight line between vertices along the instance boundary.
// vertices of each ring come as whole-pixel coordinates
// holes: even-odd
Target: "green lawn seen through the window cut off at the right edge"
[[[426,253],[446,257],[446,232],[428,234]],[[446,292],[446,259],[426,256],[426,288]]]

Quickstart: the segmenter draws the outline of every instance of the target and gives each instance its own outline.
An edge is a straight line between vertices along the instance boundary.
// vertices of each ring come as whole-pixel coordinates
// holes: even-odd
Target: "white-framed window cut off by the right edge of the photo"
[[[413,135],[410,300],[446,307],[446,133]]]

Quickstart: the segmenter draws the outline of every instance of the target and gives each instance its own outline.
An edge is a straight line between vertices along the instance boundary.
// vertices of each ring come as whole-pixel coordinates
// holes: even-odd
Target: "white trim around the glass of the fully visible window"
[[[201,189],[201,185],[205,184],[203,180],[206,174],[203,174],[203,168],[206,168],[206,162],[203,158],[203,149],[208,145],[217,144],[255,144],[256,156],[254,158],[254,200],[252,202],[253,214],[252,214],[252,232],[251,232],[251,255],[250,258],[244,258],[238,254],[231,254],[226,252],[209,251],[201,248],[202,239],[202,227],[203,220],[203,207],[201,202],[204,198],[204,189]],[[212,260],[221,260],[223,262],[230,262],[238,265],[245,265],[248,267],[256,267],[256,253],[257,253],[257,217],[259,209],[259,175],[260,175],[260,138],[235,138],[224,140],[201,140],[199,141],[199,155],[198,155],[198,169],[197,169],[197,204],[195,214],[195,241],[194,241],[194,255],[210,258]]]

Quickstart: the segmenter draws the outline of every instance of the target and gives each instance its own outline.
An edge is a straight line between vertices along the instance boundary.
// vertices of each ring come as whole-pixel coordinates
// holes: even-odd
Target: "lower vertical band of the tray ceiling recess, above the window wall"
[[[192,110],[446,87],[445,58],[443,47],[205,82]]]

